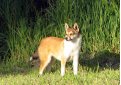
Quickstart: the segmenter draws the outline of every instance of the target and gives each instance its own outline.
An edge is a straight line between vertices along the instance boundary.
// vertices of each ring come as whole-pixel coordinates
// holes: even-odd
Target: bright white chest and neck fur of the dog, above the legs
[[[79,55],[81,38],[82,36],[80,35],[75,41],[64,40],[64,57],[67,60],[72,60],[75,55]]]

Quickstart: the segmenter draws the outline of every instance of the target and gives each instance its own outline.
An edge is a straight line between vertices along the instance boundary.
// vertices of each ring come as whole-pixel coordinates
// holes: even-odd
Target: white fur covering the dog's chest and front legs
[[[74,75],[77,75],[78,71],[78,57],[79,57],[79,50],[80,50],[80,44],[81,44],[82,36],[72,42],[72,41],[66,41],[64,40],[64,57],[66,60],[72,60],[73,59],[73,72]],[[61,75],[63,76],[65,73],[65,68],[61,67]]]

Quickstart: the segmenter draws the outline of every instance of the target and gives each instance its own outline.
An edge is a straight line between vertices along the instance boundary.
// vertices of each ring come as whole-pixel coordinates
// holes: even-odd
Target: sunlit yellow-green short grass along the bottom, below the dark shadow
[[[79,66],[77,76],[73,75],[71,65],[67,65],[64,77],[60,75],[60,66],[45,72],[43,76],[38,75],[37,68],[14,67],[12,70],[0,72],[1,85],[119,85],[119,69],[96,70],[85,66]],[[5,69],[4,69],[5,70]]]

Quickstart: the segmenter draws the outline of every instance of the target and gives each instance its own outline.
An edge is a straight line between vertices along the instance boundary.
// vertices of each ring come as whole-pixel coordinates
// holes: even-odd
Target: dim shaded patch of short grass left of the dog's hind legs
[[[27,63],[23,64],[12,64],[10,62],[8,63],[1,63],[0,64],[0,76],[4,75],[26,75],[31,71],[30,65]]]

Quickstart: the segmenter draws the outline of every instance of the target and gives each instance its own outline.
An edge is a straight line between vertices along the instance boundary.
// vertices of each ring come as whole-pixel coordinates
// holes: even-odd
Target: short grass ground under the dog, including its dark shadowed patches
[[[0,65],[1,85],[119,85],[119,55],[106,51],[92,59],[80,58],[78,75],[73,75],[72,62],[66,65],[66,74],[60,75],[60,62],[52,65],[51,72],[39,75],[38,67],[30,64]]]

